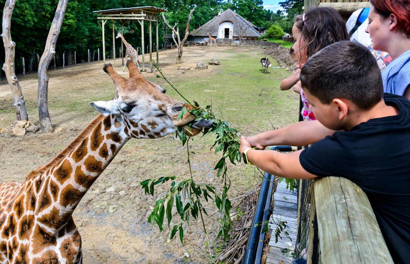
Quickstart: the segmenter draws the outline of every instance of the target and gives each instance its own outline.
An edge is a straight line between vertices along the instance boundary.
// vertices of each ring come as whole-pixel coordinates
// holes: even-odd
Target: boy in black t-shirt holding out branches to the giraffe
[[[310,57],[300,80],[317,121],[241,137],[244,161],[281,177],[353,181],[367,194],[394,262],[409,263],[410,101],[383,94],[375,58],[351,41]],[[291,154],[250,149],[312,143]]]

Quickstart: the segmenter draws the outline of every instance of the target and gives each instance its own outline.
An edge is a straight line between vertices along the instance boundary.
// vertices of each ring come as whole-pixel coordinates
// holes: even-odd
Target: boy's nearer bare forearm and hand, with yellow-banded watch
[[[244,136],[241,137],[241,147],[239,151],[242,153],[247,147],[250,147],[249,142]],[[301,150],[289,154],[282,154],[273,150],[255,150],[249,149],[246,152],[248,161],[275,176],[290,178],[290,179],[310,179],[317,177],[314,174],[303,169],[299,155]]]

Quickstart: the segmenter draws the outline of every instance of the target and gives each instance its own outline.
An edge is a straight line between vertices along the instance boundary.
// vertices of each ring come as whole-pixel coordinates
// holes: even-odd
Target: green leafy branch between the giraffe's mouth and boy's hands
[[[157,68],[159,74],[156,74],[157,78],[164,79],[171,87],[178,92],[178,90],[165,78],[161,70],[158,69],[154,62],[154,66]],[[190,103],[180,92],[178,94]],[[191,103],[190,103],[191,104]],[[192,104],[191,104],[192,105]],[[180,222],[173,225],[170,229],[169,237],[172,239],[176,232],[179,230],[180,240],[182,242],[184,232],[182,223],[187,222],[189,226],[190,216],[195,219],[199,216],[202,220],[202,225],[204,232],[206,234],[205,223],[203,220],[202,212],[207,215],[205,208],[202,206],[201,199],[205,199],[208,202],[208,198],[215,201],[216,207],[221,211],[221,230],[218,233],[218,237],[222,236],[223,241],[226,243],[229,235],[228,232],[231,229],[232,219],[230,217],[231,202],[228,198],[228,191],[230,189],[230,179],[228,177],[228,165],[226,158],[229,158],[230,163],[235,164],[241,161],[241,154],[239,153],[240,140],[237,135],[237,130],[229,127],[228,122],[217,117],[214,112],[212,112],[212,104],[201,107],[196,101],[194,101],[194,106],[191,110],[187,110],[186,107],[182,108],[178,115],[179,121],[183,115],[189,112],[191,115],[195,115],[196,119],[188,124],[189,130],[185,130],[181,127],[177,127],[176,134],[182,141],[182,146],[187,145],[187,161],[189,164],[190,178],[178,178],[180,181],[175,182],[177,177],[160,177],[155,179],[146,179],[141,182],[141,187],[145,190],[145,193],[150,193],[154,195],[154,188],[157,184],[164,184],[166,181],[172,181],[169,193],[165,195],[164,198],[157,200],[154,209],[151,211],[148,218],[148,222],[154,225],[158,225],[159,230],[164,231],[162,227],[164,216],[168,219],[168,228],[171,228],[172,220],[172,208],[175,201],[175,206],[180,215]],[[217,194],[215,188],[204,183],[196,184],[194,178],[196,175],[192,174],[191,163],[189,156],[190,154],[195,154],[189,151],[189,140],[191,139],[191,131],[193,124],[199,120],[205,119],[208,123],[212,124],[212,127],[205,128],[203,130],[203,136],[207,134],[214,133],[216,135],[216,140],[211,149],[215,147],[215,154],[222,153],[222,158],[216,163],[214,170],[217,170],[216,177],[221,179],[223,183],[223,191],[221,194]],[[212,196],[214,196],[214,199]],[[166,203],[166,208],[165,208]]]

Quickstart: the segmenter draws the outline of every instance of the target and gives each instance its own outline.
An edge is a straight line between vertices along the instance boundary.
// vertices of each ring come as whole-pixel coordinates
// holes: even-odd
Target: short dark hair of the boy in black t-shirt
[[[339,41],[307,60],[299,76],[303,89],[329,104],[344,98],[361,109],[383,99],[383,81],[371,52],[352,41]]]

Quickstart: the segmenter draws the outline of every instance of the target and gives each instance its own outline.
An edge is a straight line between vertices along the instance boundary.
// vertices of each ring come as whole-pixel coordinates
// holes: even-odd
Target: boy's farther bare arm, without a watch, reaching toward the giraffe
[[[281,129],[267,131],[246,138],[251,147],[264,149],[266,146],[306,146],[313,144],[336,131],[327,129],[319,121],[297,122]]]

